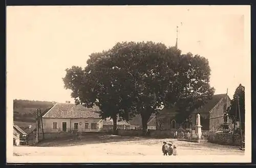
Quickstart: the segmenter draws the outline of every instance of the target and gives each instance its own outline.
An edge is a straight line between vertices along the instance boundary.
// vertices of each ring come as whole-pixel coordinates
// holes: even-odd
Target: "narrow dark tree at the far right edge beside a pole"
[[[227,113],[229,118],[232,119],[233,122],[239,121],[239,113],[238,113],[238,100],[240,105],[240,114],[241,114],[241,127],[244,130],[245,126],[245,87],[241,84],[237,87],[234,92],[233,99],[230,101],[230,106],[227,108]]]

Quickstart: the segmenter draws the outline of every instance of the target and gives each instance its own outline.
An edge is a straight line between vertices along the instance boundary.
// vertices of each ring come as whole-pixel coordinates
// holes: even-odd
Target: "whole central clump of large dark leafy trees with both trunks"
[[[162,43],[117,43],[91,54],[87,64],[66,69],[65,88],[77,103],[98,105],[102,118],[111,117],[114,127],[116,116],[129,120],[140,114],[146,131],[147,120],[161,106],[177,105],[185,116],[214,94],[205,58]]]

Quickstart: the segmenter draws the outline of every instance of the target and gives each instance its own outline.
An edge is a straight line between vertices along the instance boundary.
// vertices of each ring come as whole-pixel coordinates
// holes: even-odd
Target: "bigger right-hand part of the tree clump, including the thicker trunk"
[[[112,49],[119,67],[132,76],[133,105],[141,115],[144,133],[147,121],[164,106],[179,106],[180,118],[203,105],[214,94],[209,85],[208,61],[191,53],[181,55],[175,47],[153,42],[117,43]],[[130,80],[131,81],[131,80]]]

